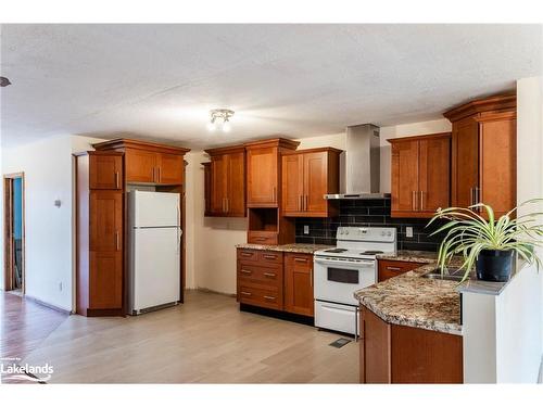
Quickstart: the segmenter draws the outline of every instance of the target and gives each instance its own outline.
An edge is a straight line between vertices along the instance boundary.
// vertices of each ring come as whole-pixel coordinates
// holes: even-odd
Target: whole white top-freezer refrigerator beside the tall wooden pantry
[[[179,301],[180,220],[178,193],[128,192],[130,314]]]

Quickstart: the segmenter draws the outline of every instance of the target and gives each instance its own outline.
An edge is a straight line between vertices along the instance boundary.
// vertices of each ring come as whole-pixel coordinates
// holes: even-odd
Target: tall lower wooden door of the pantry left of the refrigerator
[[[123,306],[123,193],[90,192],[89,307]]]

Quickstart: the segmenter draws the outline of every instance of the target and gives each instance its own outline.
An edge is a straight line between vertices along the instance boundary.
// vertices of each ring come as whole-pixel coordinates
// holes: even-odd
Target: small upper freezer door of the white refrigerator
[[[131,227],[179,226],[178,193],[132,191],[128,199]]]

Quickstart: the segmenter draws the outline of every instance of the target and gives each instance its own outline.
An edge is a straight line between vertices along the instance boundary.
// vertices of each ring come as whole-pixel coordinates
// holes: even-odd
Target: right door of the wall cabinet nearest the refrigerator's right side
[[[245,154],[231,153],[228,158],[228,216],[245,216]]]

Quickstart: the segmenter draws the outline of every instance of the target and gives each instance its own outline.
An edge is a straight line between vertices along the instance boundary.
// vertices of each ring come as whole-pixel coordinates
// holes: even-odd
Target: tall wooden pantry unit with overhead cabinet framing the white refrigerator
[[[93,148],[76,154],[76,310],[88,317],[122,316],[127,296],[126,192],[144,186],[182,194],[189,150],[128,139]],[[181,301],[184,260],[185,255],[179,265]]]

